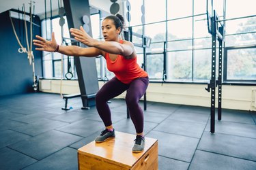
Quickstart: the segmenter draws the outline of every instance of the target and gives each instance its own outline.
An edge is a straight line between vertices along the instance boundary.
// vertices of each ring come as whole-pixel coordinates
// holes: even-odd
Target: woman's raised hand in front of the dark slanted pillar
[[[83,29],[82,26],[80,26],[80,29],[70,29],[70,33],[71,33],[71,35],[74,36],[74,39],[85,44],[86,46],[89,46],[89,47],[94,46],[94,41],[96,41],[96,40],[93,39],[92,37],[90,37],[85,32],[85,30]]]

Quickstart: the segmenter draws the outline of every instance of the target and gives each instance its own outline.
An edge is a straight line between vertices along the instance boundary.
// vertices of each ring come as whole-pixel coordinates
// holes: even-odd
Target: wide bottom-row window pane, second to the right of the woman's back
[[[191,81],[192,51],[168,52],[167,55],[167,80]]]

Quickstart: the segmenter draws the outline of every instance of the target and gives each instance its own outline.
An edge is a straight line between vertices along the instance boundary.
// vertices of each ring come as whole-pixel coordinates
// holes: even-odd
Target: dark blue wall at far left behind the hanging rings
[[[20,18],[22,17],[20,16]],[[18,19],[12,18],[12,20],[16,33],[18,36],[21,35],[21,43],[25,46],[23,29],[19,29]],[[32,66],[29,65],[27,54],[18,52],[20,46],[12,30],[8,11],[0,14],[0,22],[0,96],[32,92]],[[38,25],[41,24],[38,17],[35,17],[34,22]],[[23,23],[20,22],[21,27],[23,27]],[[30,31],[29,23],[27,22],[27,27]],[[41,35],[41,28],[34,26],[33,35]],[[42,76],[42,52],[32,49],[35,56],[35,75]]]

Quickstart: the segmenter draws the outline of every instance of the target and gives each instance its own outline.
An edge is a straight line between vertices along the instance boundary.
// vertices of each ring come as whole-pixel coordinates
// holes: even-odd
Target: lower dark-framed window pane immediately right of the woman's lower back
[[[149,78],[152,79],[162,79],[162,71],[164,68],[163,54],[147,54],[147,73]],[[154,67],[152,67],[154,65]]]

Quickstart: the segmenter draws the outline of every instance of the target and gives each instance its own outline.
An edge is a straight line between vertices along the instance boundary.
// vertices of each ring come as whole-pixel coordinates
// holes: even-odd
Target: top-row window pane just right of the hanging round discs
[[[165,20],[165,10],[167,8],[165,1],[166,0],[145,0],[145,23]],[[162,27],[158,28],[163,29]]]

